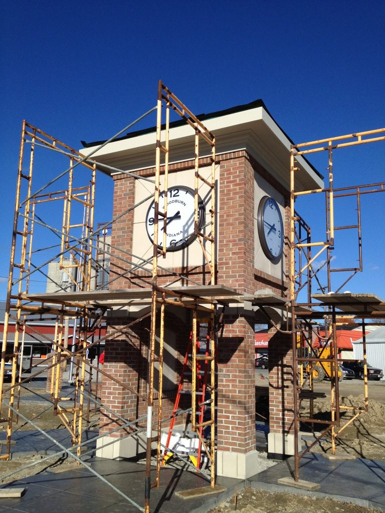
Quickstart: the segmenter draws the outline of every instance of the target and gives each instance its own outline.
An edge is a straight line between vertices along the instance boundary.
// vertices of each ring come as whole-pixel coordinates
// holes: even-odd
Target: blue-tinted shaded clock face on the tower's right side
[[[273,198],[263,196],[258,207],[258,234],[266,257],[278,262],[283,250],[283,222],[279,206]]]

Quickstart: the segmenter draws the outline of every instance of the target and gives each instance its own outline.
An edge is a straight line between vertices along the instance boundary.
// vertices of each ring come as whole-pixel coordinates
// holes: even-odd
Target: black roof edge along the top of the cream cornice
[[[267,114],[272,118],[272,120],[277,125],[277,127],[282,131],[282,133],[285,135],[285,137],[287,137],[288,141],[290,141],[291,144],[294,144],[294,141],[292,141],[292,139],[287,135],[287,133],[282,129],[282,127],[276,122],[276,120],[274,119],[272,114],[269,112],[269,110],[266,108],[266,105],[264,104],[263,100],[261,100],[261,98],[259,100],[254,100],[254,102],[251,102],[251,103],[245,103],[243,105],[238,105],[236,107],[230,107],[229,109],[216,110],[215,112],[209,112],[208,114],[204,114],[204,113],[197,114],[196,117],[199,119],[199,121],[203,122],[203,121],[209,120],[213,117],[224,116],[226,114],[234,114],[235,112],[242,112],[244,110],[256,109],[257,107],[262,107],[267,112]],[[174,127],[178,127],[178,126],[183,126],[185,123],[186,122],[183,119],[178,120],[178,121],[172,121],[170,123],[169,127],[174,128]],[[165,128],[165,125],[162,125],[162,130],[164,128]],[[132,137],[138,137],[139,135],[145,135],[147,133],[156,132],[156,130],[157,130],[156,126],[152,126],[149,128],[143,128],[142,130],[136,130],[134,132],[129,132],[126,135],[123,135],[123,137],[119,137],[118,139],[115,139],[115,141],[124,141],[125,139],[132,139]],[[105,141],[93,141],[92,143],[86,143],[85,141],[81,141],[81,144],[83,145],[83,148],[90,148],[92,146],[100,146],[103,143],[105,143],[106,141],[107,141],[107,139]],[[305,162],[307,164],[309,164],[309,166],[313,169],[313,171],[323,180],[324,177],[313,166],[313,164],[311,164],[303,155],[302,155],[302,157],[305,160]]]

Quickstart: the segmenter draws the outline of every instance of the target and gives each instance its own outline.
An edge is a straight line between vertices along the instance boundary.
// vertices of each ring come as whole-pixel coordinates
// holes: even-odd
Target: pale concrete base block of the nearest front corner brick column
[[[256,450],[241,453],[217,451],[217,476],[247,479],[260,471]]]

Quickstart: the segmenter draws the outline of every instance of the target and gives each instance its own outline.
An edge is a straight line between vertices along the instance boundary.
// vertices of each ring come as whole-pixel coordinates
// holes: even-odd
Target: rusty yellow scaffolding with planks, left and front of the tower
[[[148,174],[132,173],[105,164],[98,163],[92,158],[93,154],[105,145],[115,141],[130,127],[141,121],[152,112],[157,113],[157,128],[155,141],[155,170],[153,176]],[[165,112],[165,115],[164,115]],[[194,160],[194,223],[192,232],[187,236],[196,239],[202,251],[202,258],[205,262],[204,268],[209,275],[209,280],[202,275],[202,282],[188,276],[188,273],[178,273],[174,270],[167,271],[172,275],[174,281],[179,280],[186,284],[178,286],[175,283],[160,283],[159,276],[166,269],[160,265],[160,259],[166,258],[170,248],[167,247],[167,207],[168,207],[168,171],[170,158],[169,125],[170,113],[175,112],[188,125],[194,135],[194,147],[191,148],[192,160]],[[163,121],[165,117],[165,121]],[[203,143],[203,144],[202,144]],[[29,159],[26,148],[29,146]],[[209,148],[210,177],[203,176],[200,170],[201,147]],[[38,175],[36,165],[36,150],[46,149],[67,161],[65,171],[50,178],[48,183],[41,183],[42,176]],[[205,159],[207,162],[207,157]],[[51,165],[51,164],[49,164]],[[122,497],[128,500],[141,511],[150,511],[150,490],[152,487],[159,487],[160,467],[163,451],[167,447],[161,444],[162,425],[169,422],[171,418],[163,418],[162,415],[162,388],[163,388],[163,348],[165,340],[165,315],[167,308],[180,307],[191,312],[192,340],[198,340],[198,326],[200,317],[204,315],[207,320],[209,331],[208,353],[202,356],[197,352],[196,344],[192,348],[192,401],[191,406],[184,410],[178,410],[175,416],[190,415],[192,429],[197,433],[202,444],[203,452],[209,461],[209,475],[205,470],[199,470],[207,479],[211,487],[215,486],[215,402],[216,402],[216,337],[217,321],[216,312],[218,305],[225,305],[229,300],[236,301],[237,292],[227,287],[216,285],[216,177],[215,177],[215,137],[199,121],[199,119],[175,96],[164,84],[159,82],[157,105],[151,108],[138,120],[130,123],[123,130],[119,131],[108,141],[101,144],[96,150],[84,155],[60,142],[44,131],[23,122],[20,146],[20,158],[18,163],[16,201],[14,210],[13,238],[11,245],[10,271],[8,280],[8,293],[6,300],[6,313],[4,324],[4,336],[2,345],[2,360],[0,367],[0,403],[7,415],[2,415],[0,422],[7,425],[7,448],[1,459],[10,458],[10,445],[13,431],[13,423],[18,416],[23,418],[35,429],[33,420],[26,419],[18,411],[18,398],[21,390],[28,390],[28,381],[38,376],[41,369],[32,368],[31,376],[24,377],[22,369],[18,374],[18,361],[23,358],[21,341],[24,340],[24,333],[35,334],[37,330],[33,327],[34,321],[45,318],[54,320],[55,333],[53,337],[43,336],[42,344],[50,351],[50,358],[47,359],[48,366],[43,370],[51,373],[49,402],[53,407],[63,425],[68,429],[72,438],[72,447],[65,448],[60,443],[58,454],[66,453],[74,458],[79,464],[84,464],[84,444],[82,432],[84,420],[89,418],[90,402],[109,412],[117,427],[111,432],[123,431],[125,437],[138,435],[144,432],[147,439],[146,449],[146,478],[145,478],[145,500],[144,508],[121,490],[116,489]],[[24,169],[28,168],[28,171]],[[95,219],[95,195],[98,179],[97,171],[115,172],[129,175],[135,180],[144,180],[150,183],[153,192],[146,198],[152,200],[154,206],[153,214],[153,252],[151,259],[143,259],[125,249],[112,246],[106,242],[106,233],[124,215],[132,212],[138,204],[128,205],[123,213],[115,215],[107,222],[99,222],[94,228]],[[161,177],[163,188],[161,190]],[[199,189],[203,186],[209,190],[205,205],[209,213],[206,224],[202,226],[200,212],[202,210]],[[57,187],[57,190],[53,189]],[[35,188],[35,189],[33,189]],[[44,209],[52,204],[60,205],[59,214],[52,215],[51,211]],[[143,203],[143,202],[140,202]],[[49,213],[47,213],[49,212]],[[49,216],[49,223],[47,222]],[[55,225],[55,222],[57,224]],[[49,234],[56,243],[48,244],[49,237],[43,235],[43,231]],[[163,231],[163,237],[158,233]],[[46,246],[42,247],[42,243]],[[37,243],[37,244],[36,244]],[[172,248],[171,248],[172,250]],[[43,261],[40,257],[43,252],[50,254],[55,252],[54,257]],[[114,259],[115,267],[119,269],[118,275],[112,278],[109,274],[109,260]],[[47,271],[47,265],[52,262],[59,262],[60,271],[65,275],[63,282],[55,282]],[[112,260],[111,260],[112,265]],[[152,278],[148,286],[143,288],[114,290],[113,282],[139,270],[148,270],[152,266]],[[33,286],[33,275],[43,276],[50,282],[54,282],[56,290],[53,293],[35,292]],[[102,278],[101,278],[102,276]],[[107,280],[106,280],[107,278]],[[106,283],[107,282],[107,283]],[[109,290],[106,289],[108,284]],[[226,299],[228,298],[228,299]],[[105,336],[100,336],[100,330],[105,327],[106,312],[113,311],[114,307],[136,305],[146,307],[150,305],[149,311],[134,318],[125,326],[117,329],[109,329]],[[68,320],[72,320],[73,344],[78,336],[78,347],[73,345],[72,350],[68,348]],[[147,377],[147,394],[138,392],[133,387],[115,378],[112,374],[98,368],[87,358],[88,350],[93,346],[100,345],[105,340],[119,338],[122,334],[144,320],[150,319],[149,335],[149,366]],[[8,387],[4,383],[4,368],[6,363],[7,337],[9,323],[15,323],[15,337],[12,349],[12,375]],[[160,328],[159,338],[156,335],[157,328]],[[92,338],[98,333],[99,336]],[[186,341],[187,343],[187,341]],[[206,384],[205,397],[197,400],[195,389],[197,387],[197,368],[202,358],[210,367],[209,382]],[[65,407],[63,401],[67,398],[61,397],[61,380],[63,363],[70,362],[74,376],[74,399],[67,401]],[[159,366],[159,379],[156,383],[156,366]],[[105,378],[118,383],[119,386],[135,394],[141,401],[147,404],[147,414],[135,420],[127,420],[119,416],[117,412],[101,404],[97,395],[92,393],[91,384],[93,373],[102,374]],[[72,379],[72,376],[71,376]],[[155,397],[157,389],[157,398]],[[9,393],[9,400],[7,394]],[[153,416],[154,403],[157,401],[158,413]],[[203,420],[201,416],[202,402],[209,405],[210,418]],[[146,427],[142,428],[139,423],[145,422]],[[210,436],[203,437],[202,429],[209,429]],[[155,436],[153,432],[155,431]],[[45,433],[44,433],[45,434]],[[100,437],[97,437],[100,438]],[[155,482],[151,483],[151,446],[157,444],[157,464]],[[108,442],[108,445],[113,442]],[[42,460],[40,460],[42,461]],[[192,466],[192,465],[191,465]],[[91,471],[98,475],[93,469]],[[101,479],[101,476],[98,475]]]

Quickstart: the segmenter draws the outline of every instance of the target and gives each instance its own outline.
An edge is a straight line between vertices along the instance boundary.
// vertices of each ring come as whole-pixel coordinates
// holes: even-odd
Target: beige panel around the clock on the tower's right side
[[[264,254],[258,235],[258,206],[263,196],[271,196],[278,203],[282,220],[285,220],[284,198],[272,185],[262,178],[257,172],[254,173],[254,267],[266,272],[279,280],[285,279],[285,257],[282,255],[277,264],[273,264]],[[285,234],[287,235],[287,234]]]

